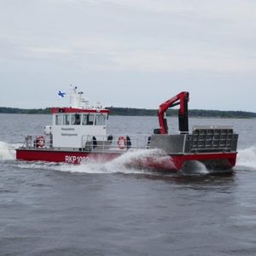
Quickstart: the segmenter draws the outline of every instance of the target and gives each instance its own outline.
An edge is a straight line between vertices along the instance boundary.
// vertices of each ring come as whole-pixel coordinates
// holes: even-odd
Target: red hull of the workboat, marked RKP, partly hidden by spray
[[[17,160],[85,163],[87,160],[108,161],[119,157],[118,153],[87,153],[76,151],[53,151],[40,149],[16,149]],[[189,161],[200,161],[211,169],[230,169],[236,165],[236,153],[172,154],[160,157],[145,157],[131,165],[157,170],[178,171]],[[127,164],[129,165],[129,164]]]

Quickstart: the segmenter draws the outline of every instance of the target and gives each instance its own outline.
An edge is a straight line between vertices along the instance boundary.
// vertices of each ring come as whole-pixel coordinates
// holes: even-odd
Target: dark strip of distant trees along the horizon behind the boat
[[[145,109],[145,108],[114,108],[109,107],[111,115],[129,115],[129,116],[156,116],[156,109]],[[177,109],[168,109],[168,116],[177,116]],[[0,113],[28,113],[28,114],[49,114],[50,108],[0,108]],[[204,109],[190,109],[190,117],[200,118],[256,118],[256,113],[247,111],[222,111],[222,110],[204,110]]]

